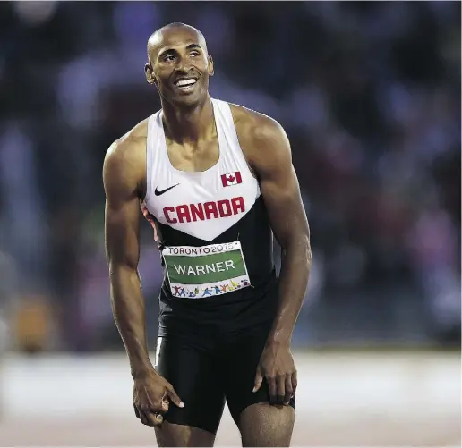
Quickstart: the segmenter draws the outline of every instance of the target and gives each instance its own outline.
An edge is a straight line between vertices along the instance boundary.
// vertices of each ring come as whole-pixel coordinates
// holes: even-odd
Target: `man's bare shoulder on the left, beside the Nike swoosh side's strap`
[[[148,119],[138,123],[107,149],[103,165],[105,190],[142,190],[146,178]]]

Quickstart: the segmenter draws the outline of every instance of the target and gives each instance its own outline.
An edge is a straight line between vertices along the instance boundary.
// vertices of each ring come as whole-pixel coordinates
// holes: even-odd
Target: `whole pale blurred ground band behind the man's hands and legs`
[[[460,355],[296,353],[292,446],[460,446]],[[124,355],[10,355],[0,446],[156,446],[131,409]],[[198,410],[200,411],[200,410]],[[3,414],[3,415],[2,415]],[[226,409],[216,446],[239,446]]]

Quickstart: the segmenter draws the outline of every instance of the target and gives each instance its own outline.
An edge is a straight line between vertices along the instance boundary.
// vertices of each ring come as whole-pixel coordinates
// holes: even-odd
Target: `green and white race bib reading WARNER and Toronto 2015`
[[[174,297],[200,299],[251,286],[240,241],[162,250]]]

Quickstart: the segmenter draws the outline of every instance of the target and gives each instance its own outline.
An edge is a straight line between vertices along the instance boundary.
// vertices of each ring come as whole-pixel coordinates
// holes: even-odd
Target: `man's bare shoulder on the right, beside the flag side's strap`
[[[247,107],[230,106],[239,143],[252,167],[259,171],[259,167],[291,162],[290,144],[280,123]]]

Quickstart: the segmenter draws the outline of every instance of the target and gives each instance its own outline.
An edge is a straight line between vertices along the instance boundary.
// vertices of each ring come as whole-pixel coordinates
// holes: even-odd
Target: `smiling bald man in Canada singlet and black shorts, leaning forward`
[[[150,37],[148,56],[162,109],[118,139],[103,168],[112,305],[135,414],[155,427],[159,446],[213,446],[227,401],[243,446],[288,446],[290,342],[311,249],[287,136],[268,116],[210,98],[213,61],[200,31],[167,25]],[[140,205],[165,271],[154,366]]]

